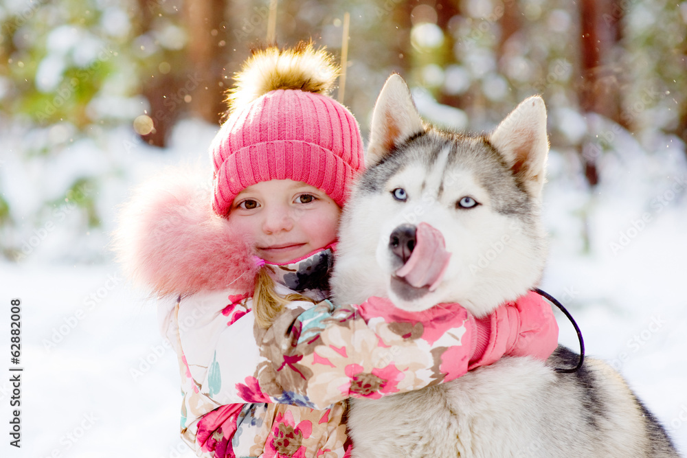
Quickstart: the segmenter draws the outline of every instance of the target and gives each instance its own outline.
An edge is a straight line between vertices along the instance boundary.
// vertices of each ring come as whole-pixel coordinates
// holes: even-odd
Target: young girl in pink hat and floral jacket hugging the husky
[[[211,146],[212,190],[173,177],[122,216],[120,257],[161,297],[181,435],[199,456],[346,456],[347,398],[556,347],[537,295],[483,319],[458,304],[413,313],[377,297],[326,300],[341,207],[363,169],[357,123],[326,96],[336,76],[312,45],[258,51]]]

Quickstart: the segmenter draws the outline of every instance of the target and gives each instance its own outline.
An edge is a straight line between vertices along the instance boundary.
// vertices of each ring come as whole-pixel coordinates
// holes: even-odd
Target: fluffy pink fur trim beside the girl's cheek
[[[252,291],[257,266],[247,238],[214,214],[210,183],[166,170],[120,211],[117,260],[128,278],[157,295]]]

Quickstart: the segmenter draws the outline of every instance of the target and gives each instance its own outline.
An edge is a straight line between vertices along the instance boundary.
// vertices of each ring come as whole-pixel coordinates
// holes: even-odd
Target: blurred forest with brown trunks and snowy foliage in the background
[[[211,137],[232,74],[270,31],[340,57],[346,13],[343,103],[363,136],[396,71],[427,119],[458,130],[489,130],[542,94],[552,149],[590,194],[599,161],[623,161],[621,139],[684,151],[687,1],[1,0],[1,257],[106,259],[112,204],[142,154],[172,154],[189,120]],[[186,141],[205,154],[207,136]]]

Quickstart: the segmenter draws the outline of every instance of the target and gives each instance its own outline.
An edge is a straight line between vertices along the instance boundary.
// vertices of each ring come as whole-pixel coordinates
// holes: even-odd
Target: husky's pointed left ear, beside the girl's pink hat
[[[378,163],[394,146],[425,131],[420,113],[413,103],[410,89],[400,75],[394,73],[379,93],[370,128],[370,144],[365,164]]]

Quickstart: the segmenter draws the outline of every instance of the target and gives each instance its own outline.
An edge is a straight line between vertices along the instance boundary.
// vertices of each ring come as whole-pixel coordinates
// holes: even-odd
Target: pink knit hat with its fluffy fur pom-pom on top
[[[363,141],[350,111],[322,94],[336,70],[331,57],[312,45],[265,49],[247,62],[237,77],[243,84],[232,95],[232,115],[210,149],[217,214],[225,216],[246,187],[282,179],[303,181],[343,205],[364,166]],[[316,84],[323,79],[327,84]]]

